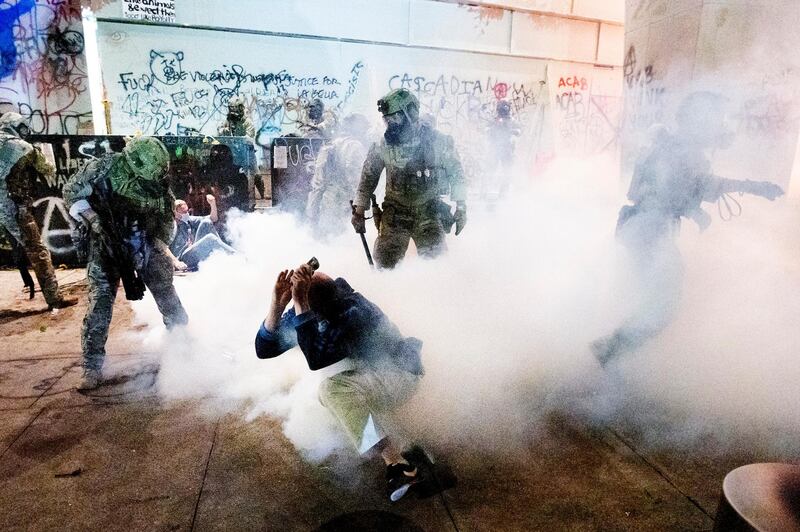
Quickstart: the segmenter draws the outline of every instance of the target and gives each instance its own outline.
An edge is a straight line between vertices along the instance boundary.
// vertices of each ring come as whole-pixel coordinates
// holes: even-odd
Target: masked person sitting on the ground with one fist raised
[[[214,251],[235,253],[232,247],[222,241],[214,224],[219,219],[217,200],[211,194],[206,195],[211,207],[208,216],[192,216],[189,205],[183,200],[175,200],[175,238],[169,250],[176,270],[196,270]]]

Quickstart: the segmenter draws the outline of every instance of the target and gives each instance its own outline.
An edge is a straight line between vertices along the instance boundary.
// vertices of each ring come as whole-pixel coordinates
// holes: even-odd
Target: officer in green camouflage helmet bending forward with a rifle
[[[172,285],[173,265],[167,253],[174,202],[166,180],[168,168],[164,145],[151,137],[138,137],[122,153],[92,161],[64,186],[70,215],[89,234],[89,308],[81,333],[80,390],[101,383],[120,279],[128,299],[141,299],[145,286],[150,290],[167,328],[188,322]]]

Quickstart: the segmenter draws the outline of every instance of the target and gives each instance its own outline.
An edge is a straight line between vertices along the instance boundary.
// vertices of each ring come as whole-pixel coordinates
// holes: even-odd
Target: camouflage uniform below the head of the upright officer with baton
[[[420,255],[434,257],[446,249],[440,219],[439,194],[450,188],[450,199],[466,200],[466,186],[452,137],[424,124],[399,144],[385,138],[367,153],[355,204],[370,206],[370,195],[386,169],[383,217],[375,241],[375,260],[392,268],[406,254],[411,238]]]

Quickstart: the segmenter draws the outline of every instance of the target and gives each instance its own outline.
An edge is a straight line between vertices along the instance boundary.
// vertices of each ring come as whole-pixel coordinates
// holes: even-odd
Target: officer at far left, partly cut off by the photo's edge
[[[58,289],[50,251],[42,243],[33,216],[34,185],[52,176],[55,168],[38,148],[24,140],[29,134],[22,115],[9,112],[0,117],[0,228],[25,249],[48,306],[68,307],[77,300],[64,297]]]

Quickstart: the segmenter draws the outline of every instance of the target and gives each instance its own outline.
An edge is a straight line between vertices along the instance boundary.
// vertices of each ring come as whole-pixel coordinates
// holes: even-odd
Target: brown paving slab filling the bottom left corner
[[[46,411],[0,462],[0,529],[189,529],[213,432],[192,405]]]

